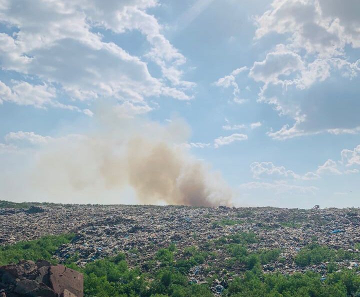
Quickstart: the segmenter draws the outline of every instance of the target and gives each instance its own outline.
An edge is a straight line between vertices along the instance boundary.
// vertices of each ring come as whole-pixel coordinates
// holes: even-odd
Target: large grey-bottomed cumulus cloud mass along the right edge
[[[294,120],[271,130],[269,136],[358,132],[359,60],[346,55],[347,47],[360,46],[360,19],[353,13],[357,7],[352,0],[274,0],[270,9],[255,17],[255,39],[270,32],[289,36],[249,71],[263,83],[258,100]]]

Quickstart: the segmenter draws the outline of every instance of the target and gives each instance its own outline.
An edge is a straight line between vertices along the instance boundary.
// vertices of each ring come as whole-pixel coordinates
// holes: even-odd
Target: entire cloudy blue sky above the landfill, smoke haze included
[[[358,11],[358,0],[0,0],[0,199],[134,204],[148,191],[166,204],[173,187],[188,193],[190,170],[206,201],[360,207]],[[158,143],[176,162],[160,152],[151,171]]]

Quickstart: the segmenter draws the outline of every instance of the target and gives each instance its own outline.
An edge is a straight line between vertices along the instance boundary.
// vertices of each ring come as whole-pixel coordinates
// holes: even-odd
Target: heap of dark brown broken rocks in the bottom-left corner
[[[83,297],[83,275],[45,260],[0,266],[1,297]]]

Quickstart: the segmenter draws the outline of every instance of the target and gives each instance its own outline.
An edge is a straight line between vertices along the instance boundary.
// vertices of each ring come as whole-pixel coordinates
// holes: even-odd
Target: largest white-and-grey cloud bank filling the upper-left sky
[[[185,57],[161,33],[156,18],[146,12],[157,4],[156,0],[109,0],[105,5],[99,0],[3,0],[0,22],[17,31],[12,36],[0,33],[1,67],[46,81],[48,100],[54,99],[51,83],[75,99],[114,97],[141,102],[162,94],[190,99],[184,90],[194,83],[183,81],[179,68]],[[145,56],[160,66],[162,78],[152,77],[139,57],[102,41],[102,35],[96,33],[98,27],[115,34],[140,31],[150,45]],[[33,87],[39,91],[38,85]],[[29,100],[12,99],[18,104]],[[47,104],[44,97],[39,100],[31,100],[31,104]],[[65,108],[59,102],[53,106]]]

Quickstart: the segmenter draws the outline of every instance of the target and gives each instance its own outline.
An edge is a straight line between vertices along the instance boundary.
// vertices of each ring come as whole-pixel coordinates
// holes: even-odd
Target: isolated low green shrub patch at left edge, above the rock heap
[[[74,234],[47,235],[37,240],[20,241],[0,247],[0,265],[17,263],[21,259],[45,259],[52,263],[52,254],[61,244],[69,243]]]

